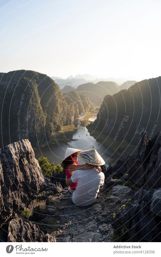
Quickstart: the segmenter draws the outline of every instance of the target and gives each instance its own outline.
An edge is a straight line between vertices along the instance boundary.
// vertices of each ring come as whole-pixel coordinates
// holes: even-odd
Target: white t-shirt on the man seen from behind
[[[95,202],[99,187],[103,186],[105,175],[96,169],[75,170],[71,176],[73,183],[77,181],[77,187],[72,195],[72,201],[76,205],[88,206]]]

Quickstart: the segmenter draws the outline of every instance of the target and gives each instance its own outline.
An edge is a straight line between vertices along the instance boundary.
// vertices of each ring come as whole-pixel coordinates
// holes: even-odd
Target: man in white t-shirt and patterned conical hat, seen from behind
[[[77,181],[77,187],[70,190],[71,200],[79,206],[88,206],[95,202],[99,187],[103,186],[105,175],[98,169],[105,161],[97,153],[96,149],[84,150],[79,157],[86,164],[91,165],[90,170],[75,170],[71,178],[65,179],[66,185],[70,186]]]

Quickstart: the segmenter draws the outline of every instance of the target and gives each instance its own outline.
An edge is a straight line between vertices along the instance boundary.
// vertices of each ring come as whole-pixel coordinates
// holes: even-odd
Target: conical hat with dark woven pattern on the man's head
[[[105,161],[102,159],[102,157],[99,155],[95,148],[81,151],[81,153],[79,153],[79,157],[82,161],[91,165],[98,166],[105,164]]]

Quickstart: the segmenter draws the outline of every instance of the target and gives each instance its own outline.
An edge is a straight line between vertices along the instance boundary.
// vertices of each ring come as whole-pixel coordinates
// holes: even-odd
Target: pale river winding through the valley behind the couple
[[[96,117],[90,117],[89,120],[96,119]],[[93,121],[93,120],[92,120]],[[50,162],[54,162],[56,165],[61,163],[64,157],[64,153],[67,147],[77,148],[81,150],[95,148],[97,152],[108,164],[112,158],[111,152],[107,148],[98,142],[94,137],[90,136],[85,126],[78,126],[77,130],[73,134],[72,140],[68,141],[67,144],[57,141],[56,143],[50,143],[43,147],[37,147],[34,149],[36,158],[43,156],[47,157]],[[78,158],[80,164],[84,164]]]

